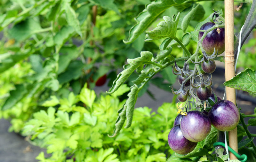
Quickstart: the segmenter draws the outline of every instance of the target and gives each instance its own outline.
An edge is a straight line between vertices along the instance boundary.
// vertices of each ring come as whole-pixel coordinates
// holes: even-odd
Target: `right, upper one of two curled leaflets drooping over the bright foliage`
[[[133,86],[131,92],[127,95],[129,98],[126,100],[124,107],[126,109],[126,126],[125,128],[129,128],[132,125],[132,116],[134,111],[134,105],[136,103],[138,97],[138,87]]]

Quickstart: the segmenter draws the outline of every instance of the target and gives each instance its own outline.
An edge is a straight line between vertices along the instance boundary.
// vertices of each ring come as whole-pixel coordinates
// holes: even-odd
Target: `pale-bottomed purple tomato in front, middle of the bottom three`
[[[203,141],[211,131],[211,121],[199,111],[189,111],[180,121],[183,136],[191,142]]]

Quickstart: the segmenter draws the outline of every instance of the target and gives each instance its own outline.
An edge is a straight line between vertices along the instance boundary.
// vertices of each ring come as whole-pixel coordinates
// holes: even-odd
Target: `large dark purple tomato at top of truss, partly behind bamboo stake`
[[[213,27],[215,24],[212,22],[207,22],[204,25],[202,25],[202,27],[200,28],[200,30],[207,30],[211,27]],[[209,32],[203,42],[202,42],[202,46],[203,49],[205,50],[205,52],[207,53],[207,55],[211,55],[214,51],[214,48],[218,53],[221,54],[224,52],[225,50],[225,29],[224,28],[219,28],[220,29],[220,34],[217,32],[217,29],[212,30],[211,32]],[[203,36],[204,32],[199,32],[198,35],[198,40],[201,39],[201,37]]]

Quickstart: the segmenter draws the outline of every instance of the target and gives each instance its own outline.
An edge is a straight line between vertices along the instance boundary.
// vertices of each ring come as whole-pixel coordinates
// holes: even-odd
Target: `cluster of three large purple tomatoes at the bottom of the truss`
[[[198,142],[207,137],[212,126],[220,131],[230,131],[236,128],[239,119],[240,113],[236,105],[218,97],[218,102],[209,113],[189,111],[186,115],[179,114],[168,135],[168,144],[174,152],[188,154]]]

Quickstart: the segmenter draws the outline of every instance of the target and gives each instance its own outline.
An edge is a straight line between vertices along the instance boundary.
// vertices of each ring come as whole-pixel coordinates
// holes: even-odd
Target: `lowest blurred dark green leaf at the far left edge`
[[[28,92],[26,87],[22,84],[15,85],[15,88],[15,90],[10,91],[10,96],[5,100],[4,105],[2,106],[3,111],[12,108]]]

